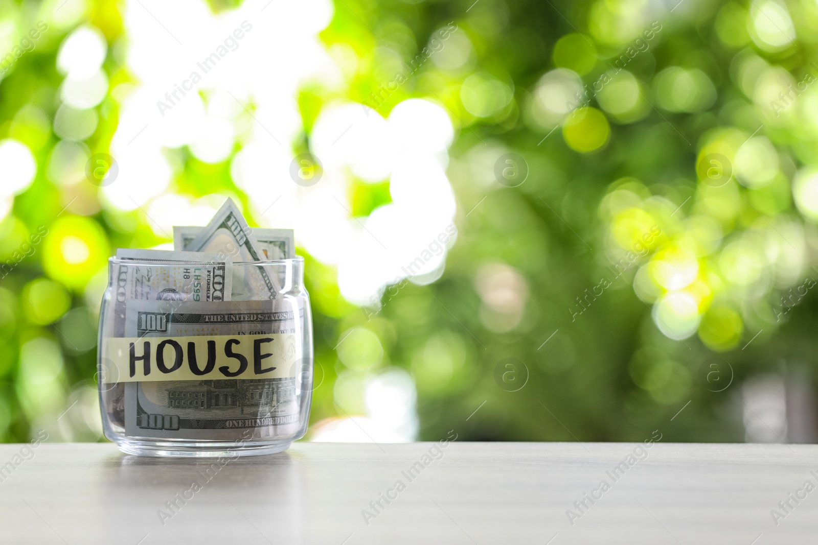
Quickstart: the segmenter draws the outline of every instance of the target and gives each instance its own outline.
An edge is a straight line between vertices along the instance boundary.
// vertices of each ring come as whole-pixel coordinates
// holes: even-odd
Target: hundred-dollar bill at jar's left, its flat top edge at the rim
[[[205,252],[132,249],[119,249],[116,255],[120,260],[135,262],[115,263],[111,271],[115,278],[115,291],[111,295],[113,306],[110,315],[106,315],[105,319],[112,337],[125,337],[128,301],[171,301],[178,304],[230,298],[233,271],[230,257]],[[110,386],[106,395],[106,411],[112,422],[124,425],[122,383]]]

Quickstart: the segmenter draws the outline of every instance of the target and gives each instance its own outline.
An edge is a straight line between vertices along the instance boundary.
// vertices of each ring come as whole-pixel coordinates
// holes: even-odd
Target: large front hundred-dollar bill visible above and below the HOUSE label
[[[161,328],[148,326],[146,314],[162,315]],[[289,299],[251,302],[129,301],[128,337],[238,336],[294,333],[276,364],[285,377],[266,379],[184,380],[125,384],[125,432],[130,437],[235,440],[249,429],[253,436],[288,436],[297,431],[296,395],[303,348],[303,309]],[[159,330],[158,330],[159,329]]]

